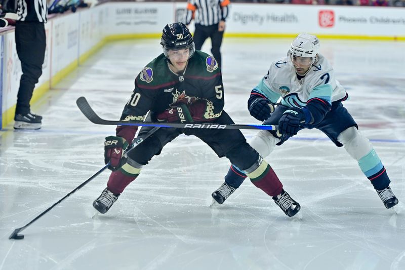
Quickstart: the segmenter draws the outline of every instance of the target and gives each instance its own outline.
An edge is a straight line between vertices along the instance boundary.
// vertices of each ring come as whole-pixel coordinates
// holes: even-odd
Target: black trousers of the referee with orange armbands
[[[218,31],[218,23],[213,24],[210,26],[204,26],[201,24],[195,24],[195,32],[193,35],[195,49],[201,50],[204,42],[207,40],[208,37],[211,37],[211,53],[214,56],[215,60],[217,60],[219,67],[221,67],[221,44],[222,44],[222,37],[224,35],[224,31]]]

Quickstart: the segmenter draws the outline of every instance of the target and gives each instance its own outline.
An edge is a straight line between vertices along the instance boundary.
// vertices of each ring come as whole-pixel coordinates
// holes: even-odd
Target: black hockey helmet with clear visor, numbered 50
[[[193,37],[187,26],[182,22],[171,23],[163,28],[161,34],[161,46],[163,53],[168,57],[169,50],[190,49],[190,56],[195,52]]]

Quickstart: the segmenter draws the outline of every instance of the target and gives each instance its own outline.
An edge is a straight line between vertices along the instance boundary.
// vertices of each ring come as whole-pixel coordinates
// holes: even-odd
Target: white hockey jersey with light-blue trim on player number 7
[[[331,64],[320,54],[301,80],[297,78],[290,56],[278,59],[270,65],[267,75],[253,91],[263,94],[273,103],[281,97],[281,104],[298,108],[313,98],[329,103],[347,98],[346,90],[335,79]]]

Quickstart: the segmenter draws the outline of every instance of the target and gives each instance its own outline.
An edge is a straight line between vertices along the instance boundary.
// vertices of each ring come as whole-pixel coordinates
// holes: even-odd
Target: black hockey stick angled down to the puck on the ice
[[[153,129],[151,129],[148,133],[146,133],[144,136],[139,137],[139,138],[135,138],[135,142],[132,143],[131,148],[132,149],[134,147],[136,147],[137,145],[139,145],[141,142],[143,142],[147,137],[149,137],[150,135],[152,135],[153,133],[156,132],[156,130],[158,130],[159,127],[155,127]],[[127,150],[127,151],[128,151]],[[125,151],[125,152],[127,152]],[[102,173],[105,169],[108,168],[110,164],[107,163],[103,168],[101,168],[98,172],[96,172],[95,174],[93,174],[92,176],[90,176],[89,179],[87,179],[86,181],[84,181],[82,184],[80,184],[79,186],[77,186],[75,189],[73,189],[72,191],[70,191],[65,197],[63,197],[62,199],[60,199],[59,201],[57,201],[56,203],[54,203],[51,207],[49,207],[47,210],[45,210],[44,212],[42,212],[41,214],[39,214],[38,216],[36,216],[34,219],[32,219],[30,222],[28,222],[25,226],[21,227],[21,228],[16,228],[14,230],[14,232],[9,236],[9,239],[16,239],[16,240],[21,240],[24,239],[24,235],[19,235],[18,233],[21,232],[23,229],[27,228],[29,225],[31,225],[32,223],[34,223],[38,218],[42,217],[43,215],[45,215],[48,211],[50,211],[52,208],[54,208],[56,205],[60,204],[63,200],[65,200],[67,197],[69,197],[70,195],[72,195],[76,190],[84,187],[87,183],[89,183],[91,180],[93,180],[97,175],[99,175],[100,173]]]

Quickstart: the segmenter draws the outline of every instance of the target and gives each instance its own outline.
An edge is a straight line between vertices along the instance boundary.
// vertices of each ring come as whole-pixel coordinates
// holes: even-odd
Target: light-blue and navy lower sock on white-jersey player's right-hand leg
[[[376,189],[384,189],[391,182],[374,148],[358,161],[358,166]]]

